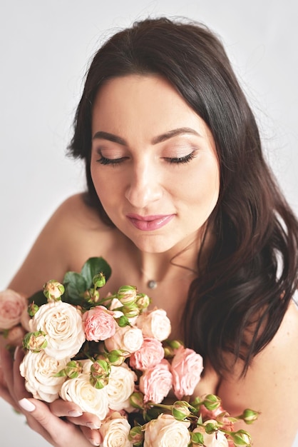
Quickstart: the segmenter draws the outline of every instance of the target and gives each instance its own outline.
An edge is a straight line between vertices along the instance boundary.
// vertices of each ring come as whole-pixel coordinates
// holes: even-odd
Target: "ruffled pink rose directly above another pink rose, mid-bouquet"
[[[162,343],[156,338],[145,337],[141,348],[130,356],[130,366],[145,371],[158,365],[164,356]]]

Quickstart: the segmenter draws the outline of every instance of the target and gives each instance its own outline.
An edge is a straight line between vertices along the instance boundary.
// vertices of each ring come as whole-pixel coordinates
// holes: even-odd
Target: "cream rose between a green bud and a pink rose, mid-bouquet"
[[[108,403],[112,410],[120,411],[130,407],[129,398],[135,388],[136,374],[126,363],[121,366],[111,366],[111,374],[106,389]]]

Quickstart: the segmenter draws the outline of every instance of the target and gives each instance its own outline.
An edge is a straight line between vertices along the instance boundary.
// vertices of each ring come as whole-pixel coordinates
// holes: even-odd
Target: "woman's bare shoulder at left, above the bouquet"
[[[80,271],[88,258],[99,256],[98,246],[106,252],[112,233],[82,194],[69,197],[48,220],[9,286],[29,295],[48,279],[62,281],[66,271]]]

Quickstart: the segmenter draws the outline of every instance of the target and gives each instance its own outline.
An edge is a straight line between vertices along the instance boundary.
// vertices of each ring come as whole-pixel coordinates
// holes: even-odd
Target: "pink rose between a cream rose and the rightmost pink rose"
[[[140,377],[140,391],[144,394],[144,402],[162,402],[168,396],[172,383],[170,363],[167,360],[163,359],[154,368],[146,369]]]

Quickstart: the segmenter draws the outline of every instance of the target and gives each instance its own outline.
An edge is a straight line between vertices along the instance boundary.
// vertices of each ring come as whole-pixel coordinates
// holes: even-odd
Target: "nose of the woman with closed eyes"
[[[125,198],[135,208],[142,209],[151,203],[158,201],[163,195],[156,166],[148,161],[135,164],[130,176]]]

